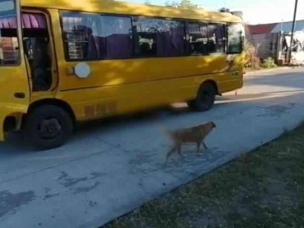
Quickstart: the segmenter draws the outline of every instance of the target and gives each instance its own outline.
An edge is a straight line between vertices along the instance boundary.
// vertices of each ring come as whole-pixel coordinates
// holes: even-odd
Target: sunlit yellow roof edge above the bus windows
[[[231,13],[177,9],[162,6],[118,2],[113,0],[21,0],[21,6],[96,13],[196,19],[218,22],[243,22],[240,17],[234,16]]]

